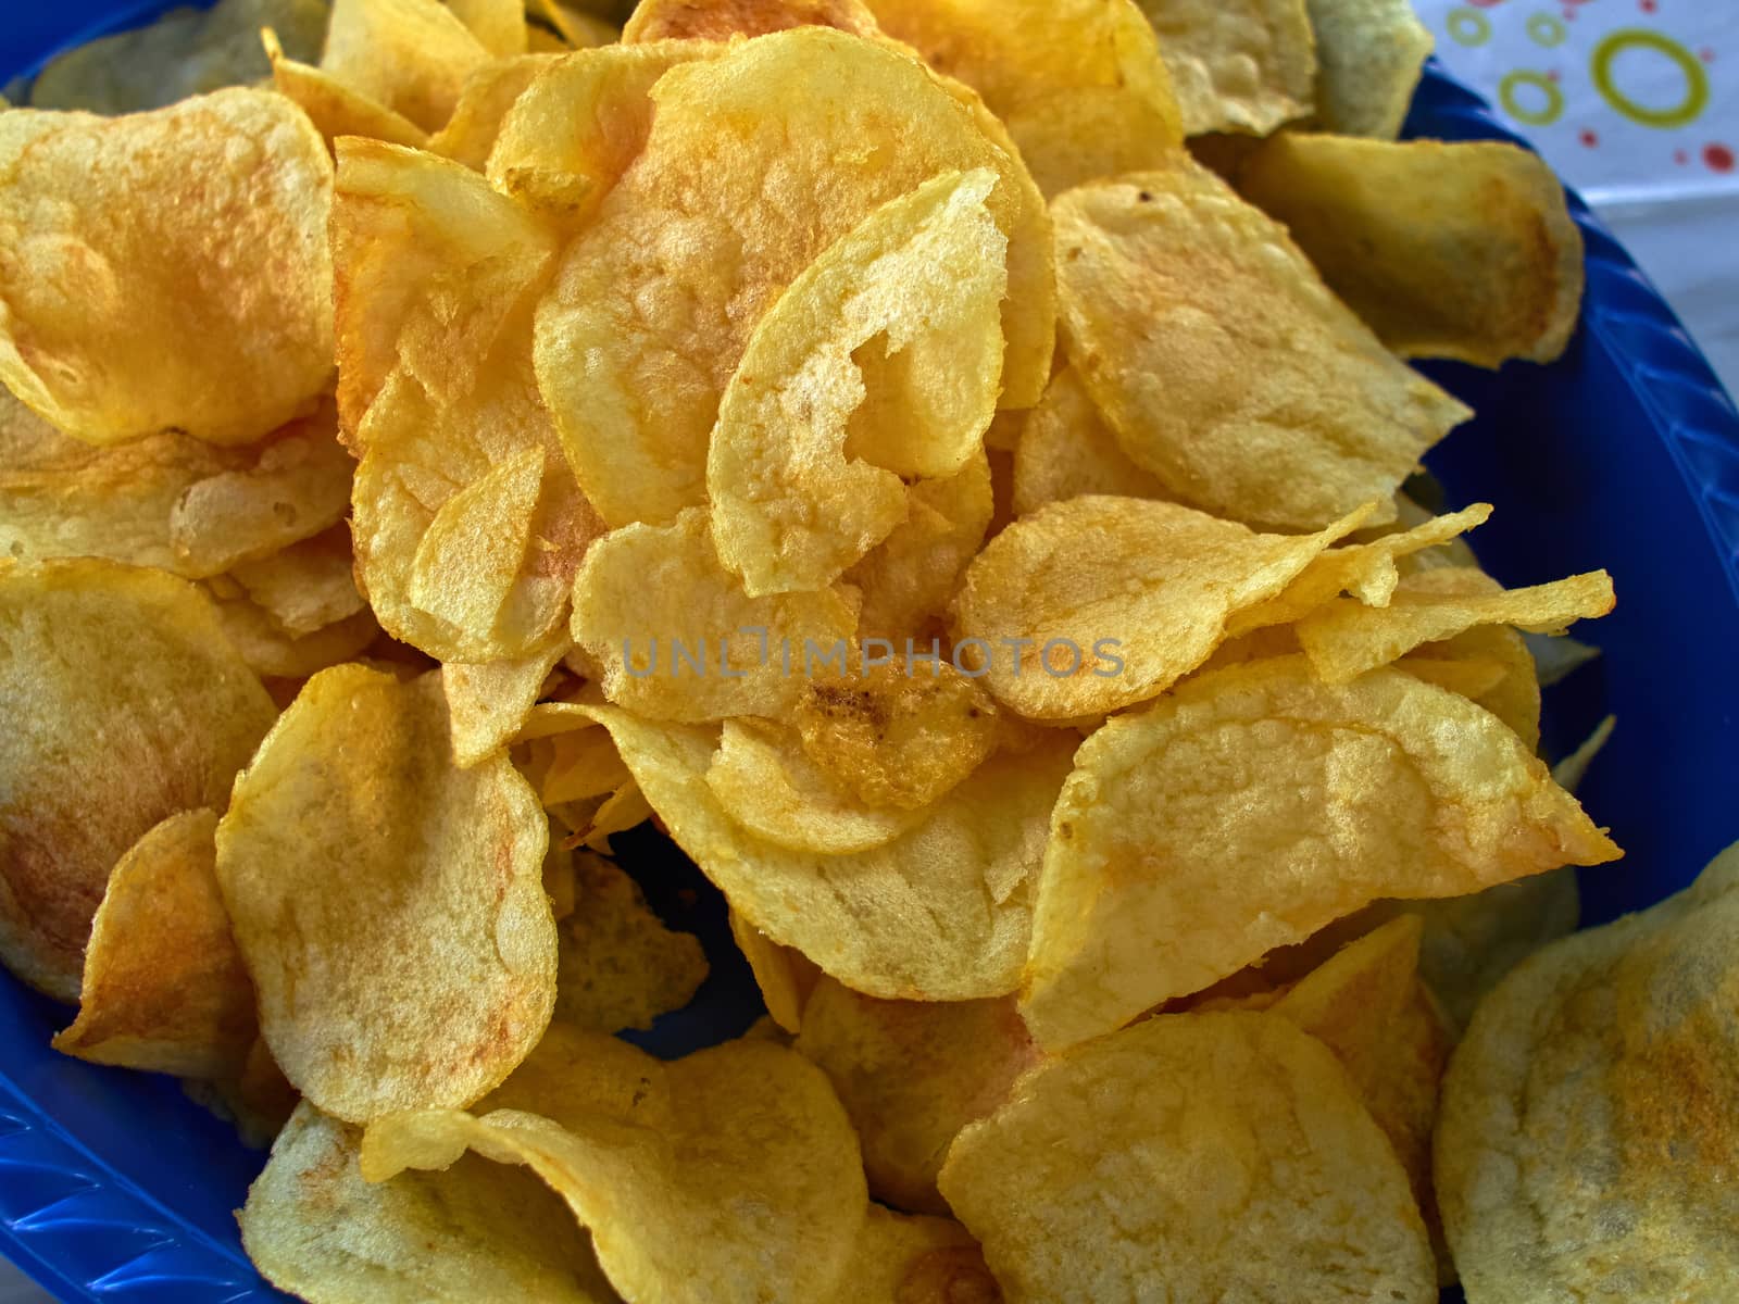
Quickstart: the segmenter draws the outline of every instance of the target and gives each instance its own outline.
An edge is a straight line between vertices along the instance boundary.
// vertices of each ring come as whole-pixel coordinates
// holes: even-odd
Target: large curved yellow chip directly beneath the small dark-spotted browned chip
[[[590,709],[676,845],[772,941],[875,996],[972,1000],[1014,989],[1069,737],[991,758],[894,842],[817,855],[774,847],[725,814],[706,784],[716,729]]]

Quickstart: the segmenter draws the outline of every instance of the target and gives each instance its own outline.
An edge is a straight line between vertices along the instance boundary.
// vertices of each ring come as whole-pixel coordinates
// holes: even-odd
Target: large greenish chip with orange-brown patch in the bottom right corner
[[[1739,852],[1555,942],[1480,1005],[1443,1080],[1436,1191],[1469,1299],[1739,1288]]]

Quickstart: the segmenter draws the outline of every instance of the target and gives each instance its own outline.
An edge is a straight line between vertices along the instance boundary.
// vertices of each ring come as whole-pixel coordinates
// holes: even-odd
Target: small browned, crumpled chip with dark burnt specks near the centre
[[[996,704],[941,661],[864,661],[810,676],[791,722],[809,760],[864,805],[922,810],[996,748]]]

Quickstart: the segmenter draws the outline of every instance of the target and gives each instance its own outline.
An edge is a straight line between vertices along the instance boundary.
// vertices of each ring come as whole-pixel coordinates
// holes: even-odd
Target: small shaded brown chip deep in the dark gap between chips
[[[574,855],[574,913],[562,920],[555,1017],[595,1033],[642,1031],[706,981],[694,934],[666,928],[640,885],[591,852]]]

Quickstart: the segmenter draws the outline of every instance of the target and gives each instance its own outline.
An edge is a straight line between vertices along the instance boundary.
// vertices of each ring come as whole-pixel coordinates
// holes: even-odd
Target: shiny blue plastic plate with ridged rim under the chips
[[[0,80],[137,23],[162,0],[9,5]],[[1433,68],[1409,134],[1515,139]],[[1428,367],[1480,417],[1433,454],[1449,501],[1490,501],[1475,536],[1506,584],[1607,567],[1619,609],[1586,636],[1605,655],[1546,694],[1546,746],[1619,718],[1582,800],[1624,861],[1582,878],[1598,923],[1678,890],[1739,838],[1739,414],[1635,264],[1572,196],[1588,238],[1588,303],[1551,367]],[[760,1008],[716,894],[656,835],[623,843],[652,904],[703,935],[713,975],[643,1043],[680,1054],[739,1033]],[[66,1059],[70,1012],[0,974],[0,1250],[64,1301],[282,1301],[242,1254],[233,1210],[263,1156],[157,1076]]]

